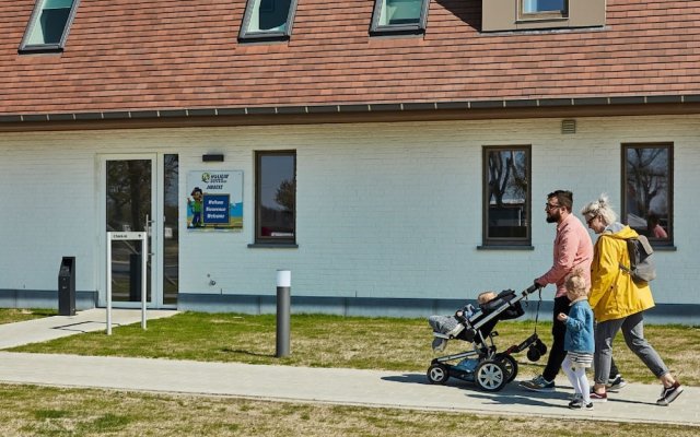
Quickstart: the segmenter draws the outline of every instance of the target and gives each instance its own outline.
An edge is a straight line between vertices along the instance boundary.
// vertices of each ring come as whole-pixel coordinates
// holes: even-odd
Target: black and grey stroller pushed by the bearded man
[[[527,358],[530,361],[537,361],[541,355],[546,354],[547,346],[537,335],[537,322],[535,322],[535,332],[530,336],[521,344],[509,347],[505,352],[497,353],[493,343],[493,338],[498,336],[498,332],[493,328],[495,328],[499,320],[515,319],[523,316],[525,311],[521,300],[527,299],[532,293],[538,290],[540,288],[532,285],[520,295],[512,290],[505,290],[492,300],[480,305],[480,308],[476,310],[465,307],[464,310],[457,311],[452,318],[456,320],[454,322],[456,327],[450,327],[452,329],[447,333],[439,332],[445,331],[445,320],[442,320],[443,324],[441,326],[441,320],[438,319],[440,316],[431,317],[429,322],[434,331],[433,347],[435,350],[444,349],[445,342],[452,339],[469,342],[472,347],[458,354],[434,358],[428,368],[430,383],[445,385],[450,377],[454,377],[476,382],[483,391],[499,391],[517,376],[517,362],[512,354],[528,349]],[[537,312],[539,312],[540,302],[541,294]]]

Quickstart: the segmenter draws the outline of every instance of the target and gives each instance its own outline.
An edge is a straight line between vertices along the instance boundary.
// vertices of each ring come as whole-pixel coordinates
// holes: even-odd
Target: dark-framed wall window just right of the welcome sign
[[[255,243],[295,244],[296,152],[257,152]]]

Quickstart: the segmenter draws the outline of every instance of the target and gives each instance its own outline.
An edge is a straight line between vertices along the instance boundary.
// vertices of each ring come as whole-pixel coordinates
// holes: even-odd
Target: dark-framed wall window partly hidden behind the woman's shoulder
[[[673,144],[622,144],[622,221],[673,244]]]

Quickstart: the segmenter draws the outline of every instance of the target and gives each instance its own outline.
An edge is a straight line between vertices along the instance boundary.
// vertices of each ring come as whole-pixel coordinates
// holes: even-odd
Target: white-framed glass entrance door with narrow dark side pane
[[[141,293],[150,308],[177,305],[178,229],[177,155],[104,155],[103,250],[112,252],[112,303],[114,307],[140,307]],[[147,231],[149,252],[141,241],[114,240],[106,247],[107,232]],[[141,290],[141,257],[147,256],[147,290]],[[104,263],[106,264],[106,262]],[[106,284],[107,272],[103,272]],[[106,290],[106,286],[103,288]],[[106,295],[100,294],[100,305]]]

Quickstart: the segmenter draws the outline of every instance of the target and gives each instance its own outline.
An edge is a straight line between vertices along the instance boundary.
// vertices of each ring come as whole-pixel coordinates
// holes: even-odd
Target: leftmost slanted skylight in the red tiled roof
[[[61,51],[79,0],[37,0],[20,52]]]

